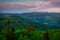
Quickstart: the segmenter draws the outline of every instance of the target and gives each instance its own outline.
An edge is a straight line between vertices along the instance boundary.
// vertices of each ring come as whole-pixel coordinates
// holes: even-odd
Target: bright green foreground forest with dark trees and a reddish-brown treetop
[[[16,29],[12,25],[14,23],[16,23],[15,20],[0,20],[0,40],[60,40],[59,29],[42,31],[37,30],[32,24],[25,29]]]

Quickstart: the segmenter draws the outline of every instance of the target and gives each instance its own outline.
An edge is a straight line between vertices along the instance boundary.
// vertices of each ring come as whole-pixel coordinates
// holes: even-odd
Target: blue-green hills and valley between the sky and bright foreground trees
[[[0,13],[0,20],[16,20],[16,28],[27,28],[34,25],[37,29],[57,29],[60,28],[60,13],[30,12],[30,13]],[[12,24],[12,22],[11,22]],[[42,26],[41,26],[42,25]]]

